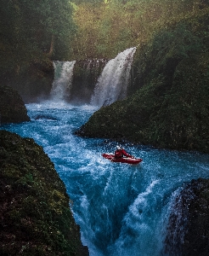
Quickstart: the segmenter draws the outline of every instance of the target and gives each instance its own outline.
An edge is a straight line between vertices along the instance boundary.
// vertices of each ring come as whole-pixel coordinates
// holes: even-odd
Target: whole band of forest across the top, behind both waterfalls
[[[44,59],[114,58],[204,13],[208,5],[208,0],[0,0],[1,77]]]

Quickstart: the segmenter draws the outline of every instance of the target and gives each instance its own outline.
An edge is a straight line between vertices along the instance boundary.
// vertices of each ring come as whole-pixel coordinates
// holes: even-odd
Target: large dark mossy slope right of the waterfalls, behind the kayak
[[[78,134],[209,153],[208,14],[171,24],[138,49],[139,90],[99,109]]]

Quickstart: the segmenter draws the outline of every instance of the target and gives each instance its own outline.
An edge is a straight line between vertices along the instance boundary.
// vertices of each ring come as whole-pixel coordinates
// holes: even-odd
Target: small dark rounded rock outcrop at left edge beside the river
[[[0,125],[29,121],[25,104],[18,92],[0,85]]]

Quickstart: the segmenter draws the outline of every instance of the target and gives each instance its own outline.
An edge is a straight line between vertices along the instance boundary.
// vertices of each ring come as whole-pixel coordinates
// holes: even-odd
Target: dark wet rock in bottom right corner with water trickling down
[[[192,180],[177,196],[167,226],[165,253],[209,255],[209,181]]]

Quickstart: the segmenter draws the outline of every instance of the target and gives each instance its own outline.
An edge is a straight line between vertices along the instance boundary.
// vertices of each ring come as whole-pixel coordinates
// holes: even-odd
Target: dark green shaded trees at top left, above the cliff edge
[[[48,54],[67,58],[75,32],[68,0],[1,0],[1,68]]]

